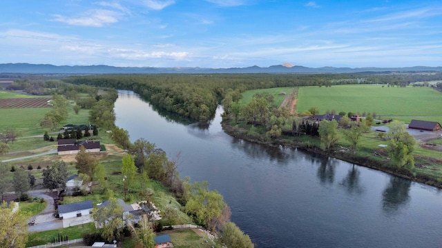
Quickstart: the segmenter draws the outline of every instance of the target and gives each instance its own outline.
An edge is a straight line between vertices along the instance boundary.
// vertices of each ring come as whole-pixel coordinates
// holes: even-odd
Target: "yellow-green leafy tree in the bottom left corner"
[[[15,209],[14,202],[2,202],[0,205],[0,247],[25,247],[28,240],[26,217]]]

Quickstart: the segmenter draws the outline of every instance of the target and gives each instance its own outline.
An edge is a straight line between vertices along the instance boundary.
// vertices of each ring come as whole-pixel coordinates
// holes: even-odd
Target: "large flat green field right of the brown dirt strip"
[[[333,85],[300,87],[298,113],[318,107],[321,114],[373,113],[377,116],[442,116],[442,93],[428,87],[383,87],[382,85]]]

